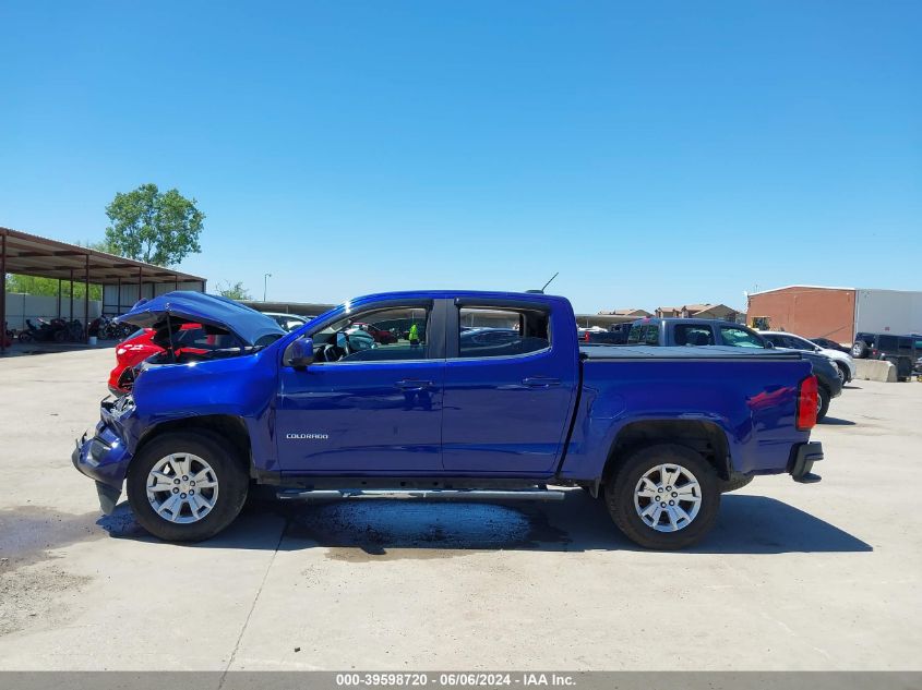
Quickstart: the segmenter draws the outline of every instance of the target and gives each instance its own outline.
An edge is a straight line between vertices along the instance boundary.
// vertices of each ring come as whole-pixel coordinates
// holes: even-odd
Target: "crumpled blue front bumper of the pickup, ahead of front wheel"
[[[93,435],[85,433],[71,453],[74,468],[96,482],[99,507],[106,515],[111,515],[116,508],[131,462],[131,453],[117,431],[113,409],[112,402],[103,401],[100,420]]]

